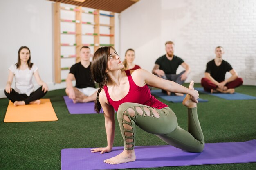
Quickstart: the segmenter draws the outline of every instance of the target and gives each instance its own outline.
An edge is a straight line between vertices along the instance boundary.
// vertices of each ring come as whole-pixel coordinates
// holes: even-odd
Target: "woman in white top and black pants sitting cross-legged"
[[[14,103],[14,106],[27,104],[40,104],[40,98],[45,96],[48,86],[39,76],[38,68],[30,62],[30,50],[26,46],[20,47],[18,51],[18,63],[11,65],[9,76],[5,86],[4,93]],[[32,78],[36,78],[39,87],[34,91]],[[15,88],[11,84],[15,77]]]

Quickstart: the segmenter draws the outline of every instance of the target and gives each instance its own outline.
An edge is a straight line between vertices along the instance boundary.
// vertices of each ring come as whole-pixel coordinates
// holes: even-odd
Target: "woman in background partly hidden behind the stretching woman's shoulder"
[[[123,61],[124,70],[136,70],[136,69],[141,68],[141,67],[139,67],[139,65],[136,65],[133,63],[134,59],[135,59],[135,51],[133,49],[129,48],[125,52],[125,59]]]

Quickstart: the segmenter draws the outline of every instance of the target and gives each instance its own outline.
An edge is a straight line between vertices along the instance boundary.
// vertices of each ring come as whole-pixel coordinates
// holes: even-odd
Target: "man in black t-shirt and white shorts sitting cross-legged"
[[[80,49],[81,62],[72,65],[70,73],[67,75],[66,94],[74,103],[91,102],[96,100],[98,89],[91,74],[90,48],[83,46]],[[76,80],[76,86],[73,87],[72,81]]]

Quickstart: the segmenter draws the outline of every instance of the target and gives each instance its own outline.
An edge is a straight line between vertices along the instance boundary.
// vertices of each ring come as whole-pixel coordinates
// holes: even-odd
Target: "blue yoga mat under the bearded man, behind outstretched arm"
[[[160,98],[163,98],[164,100],[167,100],[168,102],[173,102],[173,103],[182,103],[182,101],[186,97],[185,94],[184,94],[184,96],[175,96],[175,95],[168,96],[167,94],[162,93],[162,90],[160,90],[160,89],[151,90],[151,94],[153,94],[155,96],[159,96]],[[208,102],[208,100],[199,98],[198,102]]]

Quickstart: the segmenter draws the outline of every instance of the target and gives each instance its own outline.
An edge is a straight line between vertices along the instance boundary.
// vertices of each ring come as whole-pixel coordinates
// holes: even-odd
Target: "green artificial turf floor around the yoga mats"
[[[188,84],[184,84],[188,87]],[[200,87],[195,84],[195,87]],[[255,86],[241,86],[236,92],[256,96]],[[63,96],[65,89],[50,91],[50,98],[58,121],[5,123],[9,100],[0,99],[0,169],[61,169],[61,149],[106,146],[103,114],[71,115]],[[256,139],[256,100],[225,100],[200,94],[209,102],[198,104],[198,117],[206,143],[243,142]],[[182,104],[173,104],[161,98],[176,113],[178,124],[187,129],[187,111]],[[136,146],[165,145],[155,135],[137,128]],[[116,121],[114,146],[123,146]],[[255,170],[256,163],[145,168],[150,170]]]

